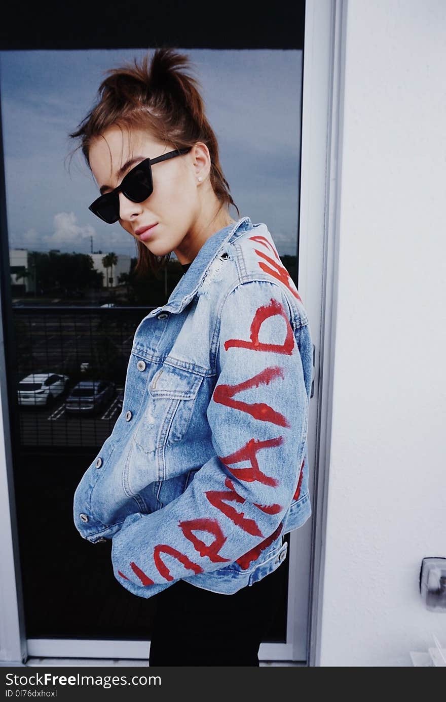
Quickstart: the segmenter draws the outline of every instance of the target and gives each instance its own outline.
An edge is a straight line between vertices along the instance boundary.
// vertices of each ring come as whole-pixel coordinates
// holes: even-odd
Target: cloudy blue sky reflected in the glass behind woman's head
[[[191,58],[220,161],[241,216],[264,222],[295,254],[300,168],[301,51],[179,48]],[[103,72],[145,50],[1,51],[0,89],[9,246],[128,253],[136,242],[87,209],[98,193],[68,138],[96,102]],[[231,215],[237,217],[234,208]]]

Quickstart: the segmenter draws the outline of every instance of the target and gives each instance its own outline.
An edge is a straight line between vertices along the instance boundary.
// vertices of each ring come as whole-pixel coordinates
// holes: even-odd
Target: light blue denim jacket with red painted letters
[[[117,581],[231,594],[274,571],[311,515],[307,312],[267,226],[201,247],[134,334],[122,412],[84,473],[74,520],[112,538]]]

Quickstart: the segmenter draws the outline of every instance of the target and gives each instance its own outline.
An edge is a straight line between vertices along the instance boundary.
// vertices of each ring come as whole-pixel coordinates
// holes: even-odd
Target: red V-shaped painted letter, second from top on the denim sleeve
[[[269,404],[265,404],[265,402],[249,404],[248,402],[232,399],[234,395],[237,395],[238,392],[242,392],[242,390],[258,388],[259,385],[268,385],[274,378],[278,377],[283,378],[283,370],[277,366],[269,366],[253,376],[253,378],[248,378],[248,380],[237,383],[237,385],[217,385],[212,397],[214,402],[239,409],[241,412],[246,412],[262,422],[272,422],[281,427],[289,427],[286,417],[280,412],[276,412]]]

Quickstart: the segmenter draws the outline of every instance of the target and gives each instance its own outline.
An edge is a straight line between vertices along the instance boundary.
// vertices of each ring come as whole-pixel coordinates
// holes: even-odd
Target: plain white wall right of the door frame
[[[446,3],[348,0],[320,665],[446,647]]]

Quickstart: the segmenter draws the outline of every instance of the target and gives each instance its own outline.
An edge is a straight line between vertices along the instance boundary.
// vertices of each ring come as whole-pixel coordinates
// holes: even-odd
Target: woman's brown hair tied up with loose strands
[[[234,205],[227,180],[220,166],[217,138],[205,115],[203,99],[198,91],[198,81],[184,72],[189,58],[172,48],[156,48],[150,65],[148,53],[138,64],[127,63],[108,69],[107,77],[98,88],[99,100],[87,117],[78,124],[70,138],[79,138],[79,147],[89,164],[91,142],[110,126],[143,128],[153,138],[174,145],[176,149],[191,147],[196,142],[205,143],[210,154],[210,183],[221,207]],[[71,154],[71,155],[72,155]],[[167,264],[170,253],[155,256],[141,241],[134,272],[145,274],[148,270],[158,273]]]

